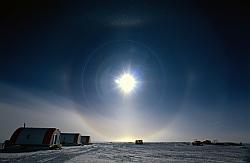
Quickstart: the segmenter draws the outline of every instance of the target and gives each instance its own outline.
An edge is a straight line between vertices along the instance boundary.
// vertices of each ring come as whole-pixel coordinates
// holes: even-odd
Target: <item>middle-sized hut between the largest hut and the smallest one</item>
[[[60,142],[62,146],[81,145],[81,134],[80,133],[61,133]]]

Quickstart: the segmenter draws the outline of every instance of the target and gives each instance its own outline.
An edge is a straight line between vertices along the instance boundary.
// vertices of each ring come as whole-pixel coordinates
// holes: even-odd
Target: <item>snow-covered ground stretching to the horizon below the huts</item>
[[[0,153],[0,162],[250,162],[250,146],[185,143],[99,143],[28,153]]]

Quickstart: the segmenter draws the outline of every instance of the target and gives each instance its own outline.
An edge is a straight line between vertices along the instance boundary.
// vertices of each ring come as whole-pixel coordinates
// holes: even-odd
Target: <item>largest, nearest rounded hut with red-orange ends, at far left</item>
[[[57,128],[20,127],[4,143],[3,152],[26,152],[60,149],[60,130]]]

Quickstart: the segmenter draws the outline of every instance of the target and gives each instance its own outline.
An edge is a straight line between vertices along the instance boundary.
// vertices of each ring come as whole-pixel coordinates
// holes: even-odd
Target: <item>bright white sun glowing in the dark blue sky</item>
[[[129,73],[122,74],[115,82],[125,94],[131,93],[136,87],[136,80]]]

